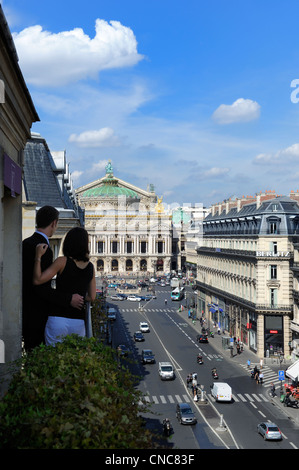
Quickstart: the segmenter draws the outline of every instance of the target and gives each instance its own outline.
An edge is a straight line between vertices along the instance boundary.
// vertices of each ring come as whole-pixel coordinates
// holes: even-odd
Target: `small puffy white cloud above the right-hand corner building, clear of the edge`
[[[221,104],[213,113],[213,119],[218,124],[248,122],[258,119],[260,105],[256,101],[239,98],[233,104]]]

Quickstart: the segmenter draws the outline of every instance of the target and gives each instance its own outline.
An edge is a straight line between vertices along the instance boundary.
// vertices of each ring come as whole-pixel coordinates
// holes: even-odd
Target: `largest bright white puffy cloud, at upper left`
[[[92,39],[82,28],[56,34],[36,25],[13,33],[26,81],[57,87],[96,79],[101,70],[133,66],[143,58],[133,31],[119,21],[97,19],[95,30]]]

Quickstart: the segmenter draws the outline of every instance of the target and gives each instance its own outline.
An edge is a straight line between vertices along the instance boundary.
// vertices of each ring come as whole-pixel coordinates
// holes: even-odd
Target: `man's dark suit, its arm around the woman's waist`
[[[35,247],[47,243],[45,237],[34,233],[23,240],[23,340],[26,350],[44,343],[44,330],[48,315],[55,314],[55,304],[68,306],[72,295],[59,293],[51,288],[51,281],[40,286],[32,282],[35,259]],[[53,262],[53,252],[49,247],[41,257],[41,270],[47,269]]]

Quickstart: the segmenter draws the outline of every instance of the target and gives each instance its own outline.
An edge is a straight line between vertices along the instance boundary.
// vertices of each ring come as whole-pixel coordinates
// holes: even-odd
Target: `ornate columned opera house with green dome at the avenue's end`
[[[85,210],[90,259],[98,274],[154,274],[171,270],[172,218],[153,185],[147,190],[113,174],[76,190]]]

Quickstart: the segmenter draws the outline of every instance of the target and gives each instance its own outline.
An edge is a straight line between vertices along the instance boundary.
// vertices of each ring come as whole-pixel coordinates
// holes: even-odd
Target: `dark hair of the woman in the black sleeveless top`
[[[72,228],[65,236],[62,251],[64,256],[77,261],[89,261],[87,231],[82,227]]]

